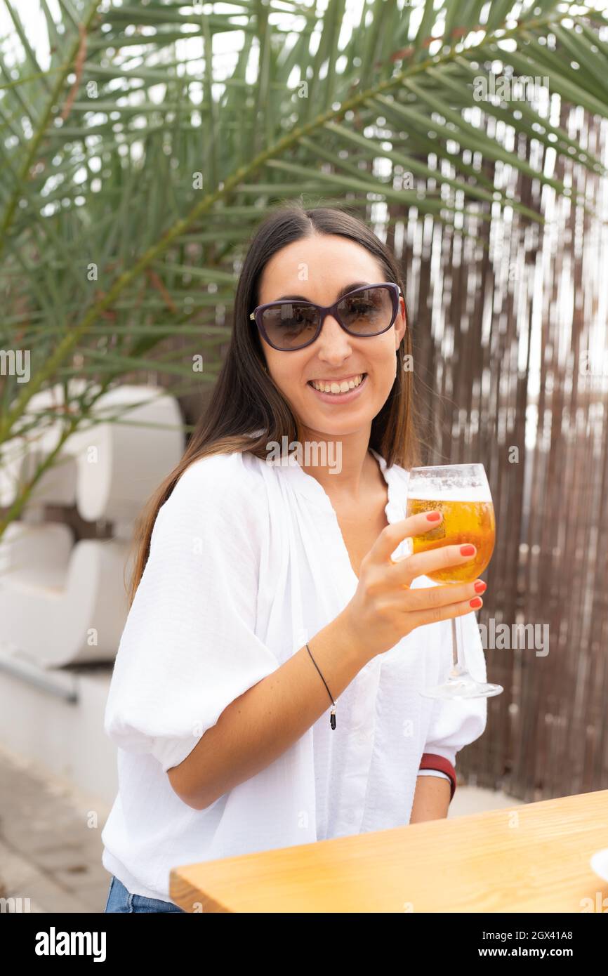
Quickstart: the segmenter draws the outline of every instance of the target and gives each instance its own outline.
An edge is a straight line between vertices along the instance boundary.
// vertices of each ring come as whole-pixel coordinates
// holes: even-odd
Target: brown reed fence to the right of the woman
[[[605,123],[570,108],[560,125],[606,158]],[[538,144],[513,151],[546,165]],[[569,160],[555,175],[596,216],[516,177],[544,226],[473,219],[474,240],[410,212],[387,238],[405,270],[425,463],[481,462],[493,493],[479,623],[548,625],[547,654],[541,627],[536,646],[529,629],[524,646],[487,648],[505,693],[458,758],[467,783],[525,801],[608,787],[607,189]]]

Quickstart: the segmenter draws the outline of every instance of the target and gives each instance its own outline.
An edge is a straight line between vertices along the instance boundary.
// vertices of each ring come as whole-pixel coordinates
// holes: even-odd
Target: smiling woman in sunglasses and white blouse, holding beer
[[[105,714],[106,911],[179,911],[178,865],[446,816],[486,702],[419,692],[451,663],[453,617],[485,679],[485,585],[425,575],[471,547],[408,554],[437,525],[403,517],[411,351],[398,267],[365,224],[270,214],[213,402],[141,521]]]

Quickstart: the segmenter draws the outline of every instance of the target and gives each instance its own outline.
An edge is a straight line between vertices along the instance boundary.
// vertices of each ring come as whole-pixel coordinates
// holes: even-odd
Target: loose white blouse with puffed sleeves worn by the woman
[[[387,520],[398,521],[408,472],[373,453],[388,486]],[[156,517],[104,718],[118,746],[119,789],[102,864],[134,894],[169,901],[178,865],[405,826],[423,752],[454,764],[484,731],[486,699],[419,694],[450,668],[448,620],[413,630],[365,665],[336,699],[336,729],[328,697],[293,746],[211,806],[194,810],[174,793],[167,770],[357,587],[329,496],[294,456],[283,461],[248,452],[195,461]],[[413,586],[433,583],[419,577]],[[474,613],[460,622],[469,671],[483,681]]]

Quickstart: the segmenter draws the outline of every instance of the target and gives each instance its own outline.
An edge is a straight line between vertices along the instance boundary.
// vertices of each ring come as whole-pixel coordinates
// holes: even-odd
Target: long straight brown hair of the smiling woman
[[[136,522],[136,547],[129,604],[133,603],[149,553],[158,509],[167,501],[183,471],[199,458],[233,451],[251,451],[267,458],[268,441],[301,440],[298,419],[270,375],[264,370],[261,338],[250,312],[259,305],[259,283],[264,265],[287,244],[313,234],[340,234],[366,248],[379,262],[385,281],[405,288],[388,248],[358,217],[346,210],[317,207],[304,210],[299,203],[281,204],[259,225],[244,259],[236,287],[234,322],[223,366],[212,400],[193,431],[182,460],[150,497]],[[409,316],[404,339],[397,350],[395,381],[385,405],[372,421],[370,447],[386,465],[410,468],[420,464],[420,442],[414,417],[413,371],[404,368],[412,359]],[[262,429],[257,437],[252,434]]]

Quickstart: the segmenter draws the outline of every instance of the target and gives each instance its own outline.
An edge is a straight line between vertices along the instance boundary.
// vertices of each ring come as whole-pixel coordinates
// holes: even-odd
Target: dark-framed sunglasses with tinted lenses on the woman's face
[[[284,299],[258,305],[249,317],[255,319],[268,346],[292,352],[317,339],[326,315],[332,315],[349,336],[382,335],[397,317],[400,294],[399,286],[389,281],[355,288],[334,305]]]

